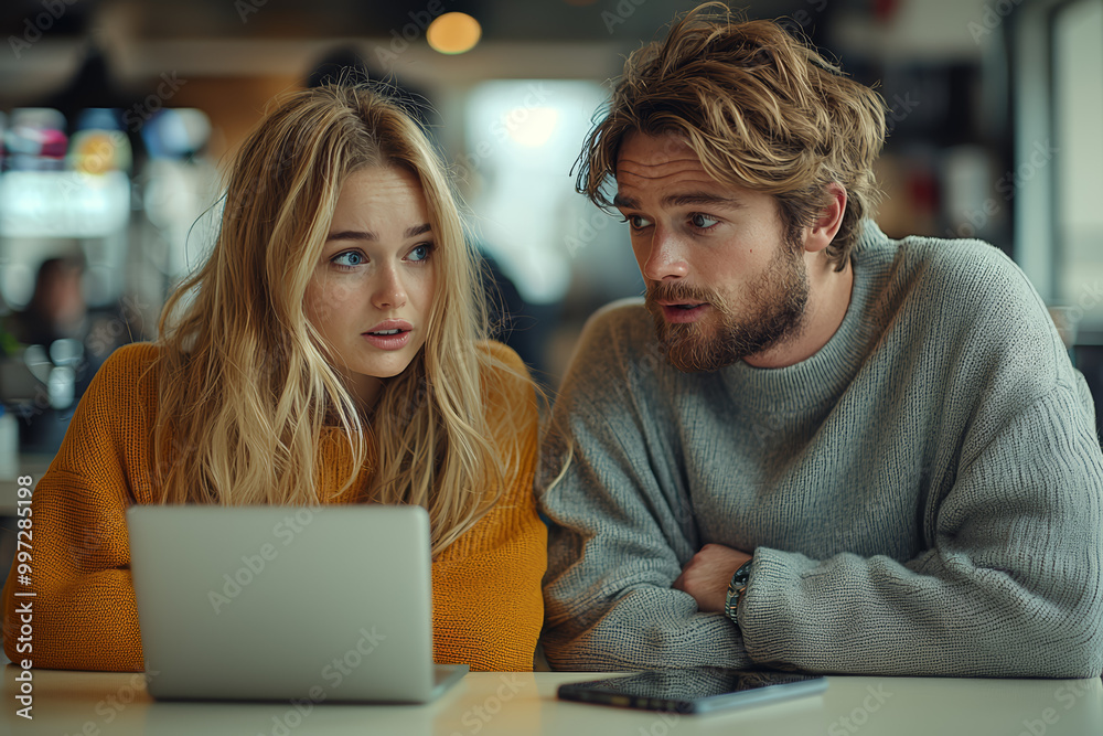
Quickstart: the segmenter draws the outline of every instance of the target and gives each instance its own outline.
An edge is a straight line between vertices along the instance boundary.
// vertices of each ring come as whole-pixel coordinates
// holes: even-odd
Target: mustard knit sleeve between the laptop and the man
[[[516,353],[493,342],[482,349],[499,363],[483,390],[491,439],[512,472],[495,506],[433,561],[433,659],[528,671],[544,622],[547,564],[547,533],[533,494],[536,397]]]

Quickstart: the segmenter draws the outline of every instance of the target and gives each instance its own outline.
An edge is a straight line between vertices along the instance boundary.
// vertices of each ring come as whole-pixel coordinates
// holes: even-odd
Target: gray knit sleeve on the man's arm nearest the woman
[[[641,391],[661,358],[631,354],[636,341],[607,313],[583,331],[542,459],[548,662],[591,671],[747,665],[731,621],[698,612],[671,588],[697,540],[678,450]]]

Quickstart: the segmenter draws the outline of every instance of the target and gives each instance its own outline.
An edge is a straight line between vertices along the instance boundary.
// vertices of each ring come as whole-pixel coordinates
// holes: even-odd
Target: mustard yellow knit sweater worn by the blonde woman
[[[484,348],[524,374],[524,364],[508,348],[493,342]],[[157,346],[138,343],[108,359],[34,489],[31,585],[17,583],[13,565],[3,589],[3,646],[12,661],[71,670],[142,669],[125,512],[157,498],[151,434],[158,354]],[[546,533],[532,490],[535,396],[532,386],[514,376],[486,375],[482,383],[492,433],[525,427],[523,455],[499,504],[432,563],[433,657],[442,663],[465,662],[473,670],[531,670],[543,622],[546,565]],[[508,413],[513,422],[505,420]],[[346,444],[323,441],[319,465],[335,471],[324,473],[330,480],[322,481],[319,497],[323,503],[341,502],[332,499],[332,480],[350,468]],[[360,488],[368,472],[361,472]],[[36,596],[17,598],[15,590]],[[33,601],[31,650],[19,651],[13,611],[28,600]]]

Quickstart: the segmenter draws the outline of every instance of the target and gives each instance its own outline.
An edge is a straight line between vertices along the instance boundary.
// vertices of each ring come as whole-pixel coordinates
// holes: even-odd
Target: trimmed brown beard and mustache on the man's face
[[[655,320],[658,344],[679,371],[716,371],[780,344],[800,333],[808,302],[807,268],[800,242],[786,239],[761,277],[738,300],[717,289],[650,284],[646,307]],[[656,301],[707,303],[697,322],[670,323]]]

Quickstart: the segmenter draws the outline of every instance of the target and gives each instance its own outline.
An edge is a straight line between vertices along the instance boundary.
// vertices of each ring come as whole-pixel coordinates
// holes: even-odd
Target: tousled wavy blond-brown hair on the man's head
[[[842,270],[880,191],[872,164],[885,141],[880,95],[828,63],[773,21],[740,21],[709,2],[678,20],[663,42],[632,53],[608,114],[579,156],[576,188],[612,206],[606,184],[632,132],[673,134],[717,181],[772,194],[795,237],[847,192],[827,256]]]

